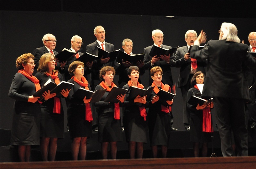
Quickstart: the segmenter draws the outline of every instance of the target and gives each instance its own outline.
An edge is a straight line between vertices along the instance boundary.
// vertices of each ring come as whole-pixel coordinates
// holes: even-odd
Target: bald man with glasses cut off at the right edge
[[[249,52],[256,52],[256,32],[249,33],[248,41],[250,43],[248,47]],[[253,76],[252,71],[246,69],[245,76],[248,81],[248,85],[250,87],[249,94],[250,94],[250,103],[246,104],[247,110],[246,115],[248,114],[249,121],[248,121],[248,134],[252,135],[255,134],[256,130],[256,78]]]

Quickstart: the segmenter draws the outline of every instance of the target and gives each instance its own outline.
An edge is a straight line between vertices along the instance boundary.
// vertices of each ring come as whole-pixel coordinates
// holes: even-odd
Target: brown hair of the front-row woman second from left
[[[54,57],[55,60],[55,56],[52,53],[44,53],[40,60],[39,60],[39,66],[37,68],[37,72],[41,72],[43,74],[49,73],[49,67],[48,67],[48,63],[51,60],[51,56]],[[57,70],[53,70],[53,72],[57,72]]]

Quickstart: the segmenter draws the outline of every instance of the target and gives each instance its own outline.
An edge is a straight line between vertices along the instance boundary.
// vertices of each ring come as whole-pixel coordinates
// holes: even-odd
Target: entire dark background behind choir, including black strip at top
[[[151,32],[154,29],[161,29],[164,32],[164,45],[176,47],[186,45],[184,35],[189,29],[197,33],[204,29],[208,40],[218,39],[218,30],[222,22],[235,24],[240,39],[244,39],[245,43],[249,44],[248,34],[255,31],[256,27],[255,18],[247,15],[244,9],[244,6],[248,5],[247,1],[239,0],[233,1],[229,6],[233,7],[232,14],[229,8],[216,7],[220,1],[215,1],[211,8],[207,7],[208,12],[199,12],[198,1],[186,1],[193,2],[193,5],[183,5],[184,7],[180,5],[183,1],[174,1],[175,4],[173,1],[167,1],[167,3],[159,1],[160,5],[152,4],[150,1],[146,4],[138,3],[140,1],[136,3],[129,1],[129,4],[134,2],[137,5],[128,6],[129,10],[123,9],[124,4],[127,4],[126,1],[121,4],[120,1],[115,3],[107,1],[110,2],[109,4],[104,1],[87,1],[89,2],[87,4],[85,1],[79,1],[80,4],[76,4],[78,1],[56,0],[51,1],[51,5],[47,7],[50,1],[33,1],[33,3],[32,1],[15,1],[16,4],[11,5],[13,2],[1,1],[0,5],[0,128],[4,129],[11,129],[12,123],[14,100],[8,97],[8,91],[12,77],[17,72],[15,60],[23,53],[33,53],[35,48],[42,47],[42,38],[46,33],[52,33],[58,40],[55,49],[58,52],[63,48],[69,49],[71,37],[79,35],[83,39],[82,48],[85,52],[86,45],[96,40],[93,29],[97,25],[102,25],[106,31],[106,42],[114,44],[115,49],[120,49],[123,39],[132,39],[133,53],[139,54],[143,53],[145,47],[153,44]],[[221,1],[221,3],[225,5],[227,2]],[[237,5],[238,3],[240,4]],[[77,8],[70,8],[72,4]],[[202,10],[205,9],[202,8]],[[165,15],[175,17],[170,18]],[[176,83],[179,71],[179,68],[172,68],[173,81]],[[117,80],[118,76],[115,77],[116,83]],[[142,84],[148,86],[148,71],[142,78]],[[173,126],[184,130],[182,97],[179,88],[176,88],[172,111]]]

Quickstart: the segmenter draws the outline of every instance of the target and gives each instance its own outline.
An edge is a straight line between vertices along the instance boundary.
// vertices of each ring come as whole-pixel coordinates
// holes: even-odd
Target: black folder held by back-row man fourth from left
[[[119,52],[119,54],[116,57],[116,61],[120,64],[122,64],[122,60],[129,61],[133,66],[137,65],[137,61],[143,61],[144,59],[144,53],[142,54],[136,54],[136,55],[129,55],[127,53],[124,53],[122,51]]]

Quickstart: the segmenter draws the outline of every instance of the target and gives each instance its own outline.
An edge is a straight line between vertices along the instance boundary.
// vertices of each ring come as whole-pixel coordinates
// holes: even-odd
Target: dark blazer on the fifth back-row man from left
[[[149,52],[151,51],[151,48],[153,47],[152,46],[148,46],[144,49],[144,59],[143,59],[143,62],[144,62],[144,69],[147,70],[147,69],[151,69],[152,67],[155,67],[155,66],[159,66],[163,69],[163,77],[162,77],[162,82],[164,84],[168,84],[170,86],[173,85],[173,81],[172,81],[172,71],[171,71],[171,67],[174,67],[175,66],[175,57],[174,57],[174,54],[170,57],[170,62],[169,64],[166,63],[166,61],[162,60],[158,60],[153,66],[151,66],[151,60],[153,58],[153,56],[150,56],[149,55]],[[166,48],[166,49],[171,49],[172,47],[171,46],[165,46],[165,45],[162,45],[162,48]],[[151,78],[151,75],[150,75],[150,71],[149,71],[149,78],[148,78],[148,86],[150,86],[152,84],[153,80]],[[147,86],[147,85],[146,85]]]

